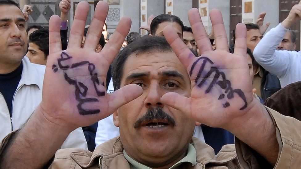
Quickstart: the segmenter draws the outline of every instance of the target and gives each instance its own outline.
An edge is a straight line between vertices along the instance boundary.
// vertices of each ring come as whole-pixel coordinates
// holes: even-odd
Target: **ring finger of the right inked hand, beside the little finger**
[[[209,16],[212,22],[212,28],[214,30],[216,49],[229,52],[228,38],[221,11],[218,9],[213,9],[210,11]]]

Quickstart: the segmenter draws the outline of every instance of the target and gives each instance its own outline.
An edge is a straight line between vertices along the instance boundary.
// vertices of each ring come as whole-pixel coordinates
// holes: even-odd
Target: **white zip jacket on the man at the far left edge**
[[[25,56],[22,59],[21,80],[14,93],[12,102],[12,121],[3,95],[0,93],[0,139],[10,132],[19,129],[27,121],[35,108],[42,101],[42,87],[45,66],[31,63]],[[61,148],[83,148],[88,150],[83,130],[72,131]]]

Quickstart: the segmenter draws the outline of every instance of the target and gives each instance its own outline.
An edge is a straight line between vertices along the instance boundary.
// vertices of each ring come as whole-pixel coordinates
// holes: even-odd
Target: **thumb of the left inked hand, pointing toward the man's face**
[[[117,91],[114,91],[109,96],[109,112],[116,111],[122,105],[138,98],[142,93],[142,88],[135,84],[126,85]]]

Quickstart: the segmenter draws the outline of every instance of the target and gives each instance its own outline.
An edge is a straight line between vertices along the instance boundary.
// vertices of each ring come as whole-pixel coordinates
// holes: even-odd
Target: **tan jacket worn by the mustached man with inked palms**
[[[301,166],[301,122],[267,108],[276,127],[276,137],[279,143],[278,160],[274,168],[297,169]],[[7,144],[11,135],[2,141],[0,153]],[[198,140],[192,138],[192,145],[196,149],[196,165],[183,163],[180,168],[188,169],[258,169],[272,168],[265,159],[258,155],[245,143],[235,139],[234,145],[225,145],[214,155],[214,150]],[[94,152],[82,149],[61,149],[56,152],[50,169],[127,169],[131,168],[123,155],[123,146],[120,138],[111,139],[96,147]]]

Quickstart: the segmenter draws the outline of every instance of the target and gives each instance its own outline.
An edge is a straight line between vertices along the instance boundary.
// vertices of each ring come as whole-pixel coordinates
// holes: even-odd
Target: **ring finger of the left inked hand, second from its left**
[[[85,29],[89,8],[90,6],[88,2],[81,1],[80,3],[78,3],[75,10],[73,24],[70,31],[68,48],[72,48],[72,47],[80,48],[83,40],[84,29]]]

